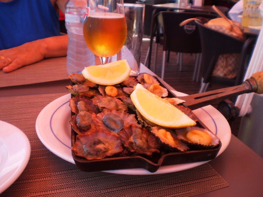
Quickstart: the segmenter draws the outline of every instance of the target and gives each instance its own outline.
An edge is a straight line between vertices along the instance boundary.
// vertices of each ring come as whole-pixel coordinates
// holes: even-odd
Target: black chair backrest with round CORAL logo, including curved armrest
[[[163,29],[164,50],[179,53],[201,53],[199,31],[195,22],[180,27],[189,18],[216,18],[216,15],[189,12],[159,12],[156,15],[159,28]]]

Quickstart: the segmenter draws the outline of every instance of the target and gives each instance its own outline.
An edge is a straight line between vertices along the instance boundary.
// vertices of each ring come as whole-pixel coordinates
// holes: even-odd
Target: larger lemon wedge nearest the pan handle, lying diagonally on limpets
[[[137,84],[130,95],[131,101],[144,118],[167,128],[183,128],[196,125],[196,122],[185,115],[168,101],[146,90]]]

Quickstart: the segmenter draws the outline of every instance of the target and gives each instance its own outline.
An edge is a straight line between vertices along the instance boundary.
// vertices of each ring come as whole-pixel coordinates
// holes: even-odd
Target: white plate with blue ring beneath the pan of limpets
[[[175,92],[177,96],[184,96],[180,92]],[[74,163],[71,155],[71,134],[70,134],[70,107],[68,100],[70,94],[57,98],[49,103],[39,113],[36,121],[36,131],[41,142],[58,157]],[[218,153],[220,155],[228,146],[231,138],[231,129],[225,117],[213,106],[206,106],[193,111],[198,118],[221,140],[222,146]],[[217,156],[218,156],[217,155]],[[162,174],[190,169],[204,163],[195,162],[187,164],[177,164],[161,166],[155,173],[150,173],[143,168],[109,170],[105,172],[116,174]]]

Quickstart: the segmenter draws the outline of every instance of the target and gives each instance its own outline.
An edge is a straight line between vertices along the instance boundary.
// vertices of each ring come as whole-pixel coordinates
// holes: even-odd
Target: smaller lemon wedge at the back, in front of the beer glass
[[[119,60],[85,67],[82,75],[95,84],[114,85],[124,81],[129,76],[130,70],[127,60]]]

